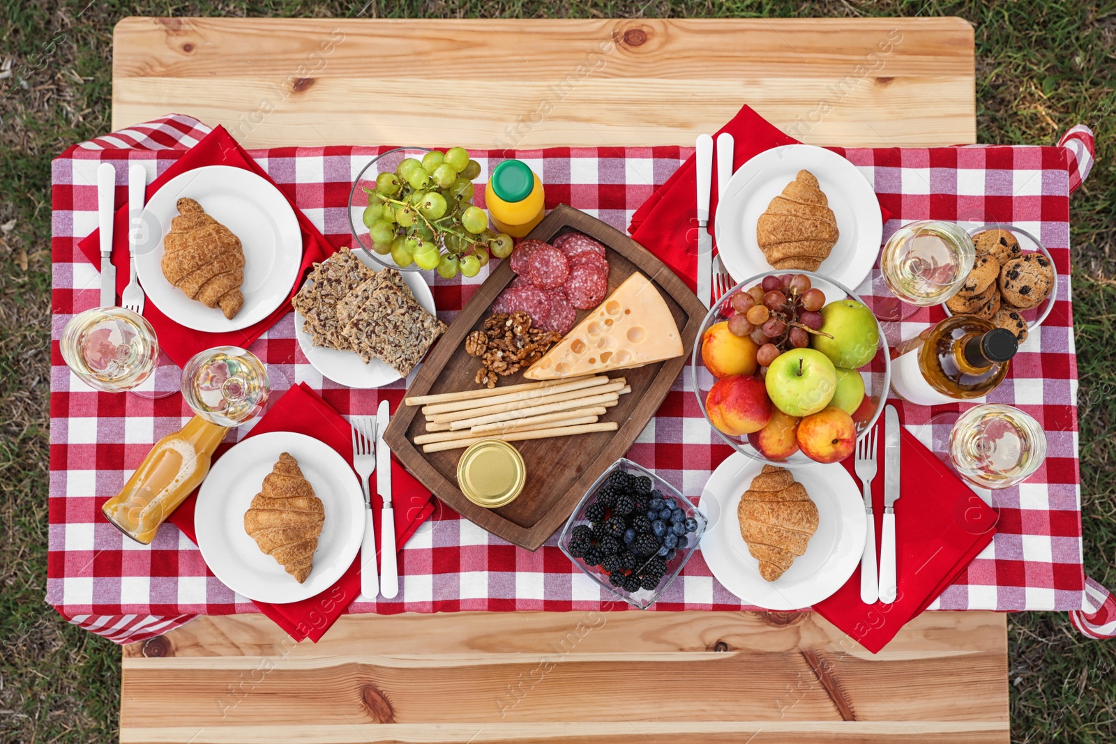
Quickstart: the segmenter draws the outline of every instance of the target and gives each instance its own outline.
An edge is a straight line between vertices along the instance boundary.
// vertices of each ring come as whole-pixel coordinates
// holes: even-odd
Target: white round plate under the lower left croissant
[[[252,496],[285,452],[298,461],[326,510],[314,569],[302,583],[244,531]],[[345,573],[360,549],[364,520],[360,483],[344,457],[305,434],[269,432],[244,439],[213,464],[198,492],[194,526],[202,558],[222,583],[249,599],[281,605],[314,597]]]

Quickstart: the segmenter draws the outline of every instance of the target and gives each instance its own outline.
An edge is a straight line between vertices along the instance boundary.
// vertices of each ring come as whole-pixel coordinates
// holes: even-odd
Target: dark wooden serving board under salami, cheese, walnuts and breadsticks
[[[599,418],[602,422],[617,422],[619,428],[615,432],[514,442],[513,446],[527,465],[527,483],[519,497],[499,509],[478,506],[461,493],[456,472],[463,450],[424,453],[421,445],[413,443],[416,435],[426,432],[420,406],[400,406],[384,434],[384,441],[403,466],[439,499],[492,534],[528,550],[541,545],[569,518],[589,485],[639,436],[690,358],[698,328],[706,313],[694,293],[662,261],[624,233],[585,212],[559,204],[528,238],[549,242],[569,230],[577,230],[604,243],[609,263],[609,294],[636,271],[651,280],[666,301],[682,337],[683,354],[680,357],[637,369],[608,373],[609,377],[624,377],[632,387],[629,394],[622,395],[617,405]],[[492,313],[492,301],[514,278],[511,262],[501,261],[426,357],[407,389],[408,396],[479,389],[473,380],[480,360],[465,354],[464,340]],[[578,322],[590,312],[578,310]],[[522,373],[517,373],[501,377],[499,386],[523,381],[530,380],[526,380]]]

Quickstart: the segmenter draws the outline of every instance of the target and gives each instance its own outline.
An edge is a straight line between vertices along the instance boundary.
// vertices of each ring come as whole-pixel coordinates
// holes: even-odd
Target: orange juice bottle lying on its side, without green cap
[[[151,544],[163,520],[205,479],[228,431],[194,416],[156,442],[124,489],[100,508],[105,519],[136,542]]]

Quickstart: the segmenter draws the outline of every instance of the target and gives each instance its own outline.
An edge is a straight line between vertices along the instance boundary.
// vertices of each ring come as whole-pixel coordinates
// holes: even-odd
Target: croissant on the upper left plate
[[[221,308],[232,319],[244,305],[244,251],[240,239],[205,214],[192,199],[175,202],[179,216],[163,239],[163,276],[166,281],[208,308]]]

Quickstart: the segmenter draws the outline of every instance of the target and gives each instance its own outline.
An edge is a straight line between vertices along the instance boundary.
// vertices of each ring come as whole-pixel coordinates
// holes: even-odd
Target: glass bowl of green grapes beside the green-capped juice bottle
[[[481,165],[464,147],[396,147],[353,181],[349,228],[377,263],[401,271],[475,277],[491,257],[511,254],[511,236],[489,228],[473,205]]]

